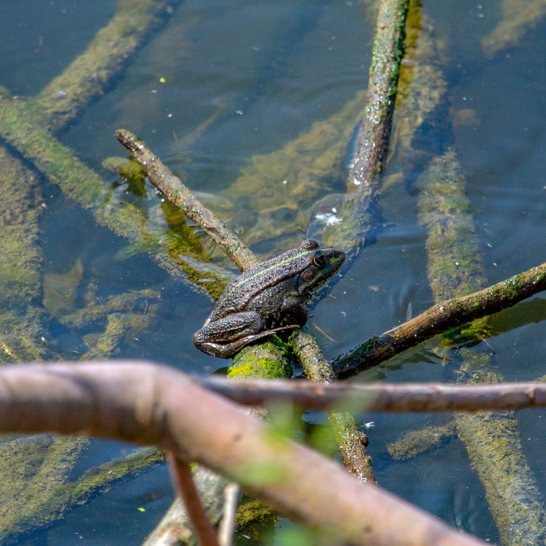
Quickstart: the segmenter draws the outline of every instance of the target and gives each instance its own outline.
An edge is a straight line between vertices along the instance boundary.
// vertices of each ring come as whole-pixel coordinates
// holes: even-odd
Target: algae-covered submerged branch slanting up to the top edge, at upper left
[[[179,0],[120,0],[107,26],[86,51],[52,80],[35,99],[44,123],[52,130],[65,127],[97,96],[147,36],[173,13]]]

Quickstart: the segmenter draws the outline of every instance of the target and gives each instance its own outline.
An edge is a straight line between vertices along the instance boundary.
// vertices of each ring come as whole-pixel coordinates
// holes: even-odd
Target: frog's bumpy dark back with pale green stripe
[[[242,273],[225,288],[209,317],[217,321],[228,314],[247,310],[251,301],[268,288],[299,275],[312,251],[294,248]]]

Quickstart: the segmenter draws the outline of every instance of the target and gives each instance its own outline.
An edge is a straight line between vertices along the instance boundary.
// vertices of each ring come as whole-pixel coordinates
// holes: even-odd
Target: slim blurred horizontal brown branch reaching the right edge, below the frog
[[[309,410],[349,408],[381,413],[524,410],[546,407],[544,383],[446,385],[443,383],[330,383],[268,379],[201,379],[204,387],[248,406],[284,400]]]

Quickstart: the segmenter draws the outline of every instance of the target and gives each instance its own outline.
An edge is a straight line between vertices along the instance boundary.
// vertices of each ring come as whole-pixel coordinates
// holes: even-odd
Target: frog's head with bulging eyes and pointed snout
[[[335,275],[345,260],[345,252],[337,248],[319,248],[317,241],[306,240],[300,248],[308,250],[307,265],[301,270],[298,280],[298,292],[301,295],[316,290],[332,275]]]

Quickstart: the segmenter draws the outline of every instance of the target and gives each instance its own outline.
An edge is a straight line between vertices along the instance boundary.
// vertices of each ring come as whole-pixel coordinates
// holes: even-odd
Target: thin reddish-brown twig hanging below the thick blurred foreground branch
[[[193,483],[192,471],[188,463],[176,457],[171,451],[167,452],[165,459],[169,463],[175,489],[186,507],[193,532],[200,546],[219,546],[216,532],[201,504],[199,493]]]

